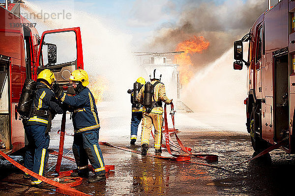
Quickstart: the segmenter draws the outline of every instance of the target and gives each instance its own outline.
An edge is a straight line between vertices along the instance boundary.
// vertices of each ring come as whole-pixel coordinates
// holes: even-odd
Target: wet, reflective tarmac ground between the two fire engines
[[[112,127],[101,129],[100,141],[107,141],[119,147],[126,147],[140,151],[140,141],[136,146],[129,145],[129,116],[117,121],[112,114],[99,113],[101,124]],[[186,115],[179,114],[178,121]],[[196,114],[186,118],[195,119]],[[198,115],[197,115],[198,116]],[[50,148],[58,150],[59,122],[61,116],[54,121],[50,133]],[[68,116],[69,118],[69,116]],[[225,117],[220,117],[225,118]],[[123,123],[126,122],[129,123]],[[226,121],[224,121],[226,123]],[[231,127],[239,127],[232,124]],[[227,125],[227,124],[225,124]],[[67,120],[66,130],[72,133],[71,121]],[[188,128],[190,127],[190,128]],[[215,127],[215,128],[214,128]],[[242,126],[240,126],[242,127]],[[122,196],[122,195],[174,195],[174,196],[291,196],[293,194],[293,176],[295,176],[295,156],[286,154],[281,149],[270,152],[270,155],[259,160],[236,165],[253,156],[250,137],[244,130],[229,130],[224,126],[209,123],[196,123],[191,120],[190,125],[179,123],[178,136],[185,146],[192,147],[196,153],[213,153],[219,160],[208,163],[198,158],[195,162],[220,166],[222,169],[200,166],[183,162],[172,162],[152,157],[142,157],[113,147],[100,146],[106,165],[115,165],[115,170],[107,174],[106,182],[89,184],[87,179],[77,190],[91,196]],[[122,131],[124,130],[124,131]],[[125,133],[125,134],[124,134]],[[173,137],[174,138],[174,137]],[[175,138],[174,138],[175,139]],[[65,137],[64,154],[73,157],[71,151],[73,137]],[[152,138],[148,153],[154,154]],[[162,156],[169,156],[163,150]],[[14,160],[23,163],[22,156],[12,156]],[[56,157],[50,155],[45,176],[53,178]],[[61,171],[75,169],[73,162],[63,159]],[[0,165],[0,196],[59,196],[55,188],[49,185],[42,189],[30,188],[29,180],[22,178],[22,172],[7,161],[1,160]]]

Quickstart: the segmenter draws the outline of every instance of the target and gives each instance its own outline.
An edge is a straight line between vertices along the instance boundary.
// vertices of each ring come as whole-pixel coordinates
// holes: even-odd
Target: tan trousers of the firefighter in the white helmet
[[[160,149],[162,145],[162,126],[163,126],[163,117],[162,114],[154,114],[143,112],[142,120],[142,135],[141,135],[141,145],[149,145],[149,136],[152,128],[152,124],[155,128],[155,149]]]

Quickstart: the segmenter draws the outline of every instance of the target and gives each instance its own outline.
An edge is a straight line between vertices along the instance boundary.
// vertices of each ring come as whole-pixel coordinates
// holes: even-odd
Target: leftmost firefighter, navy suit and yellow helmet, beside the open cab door
[[[57,113],[62,114],[63,112],[59,101],[50,89],[53,81],[55,81],[54,73],[48,69],[38,74],[36,89],[34,89],[36,93],[31,104],[29,118],[23,121],[29,142],[24,166],[39,175],[44,174],[48,160],[50,140],[48,132],[51,128],[51,120]],[[25,173],[24,177],[30,178],[30,175]],[[42,184],[41,180],[31,176],[31,186],[40,187]]]

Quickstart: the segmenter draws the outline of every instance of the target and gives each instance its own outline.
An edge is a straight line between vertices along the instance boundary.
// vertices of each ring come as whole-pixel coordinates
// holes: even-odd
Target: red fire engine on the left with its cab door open
[[[5,6],[4,6],[5,7]],[[0,142],[5,153],[25,147],[22,121],[16,111],[26,78],[50,69],[57,82],[67,85],[75,69],[83,69],[80,27],[48,30],[41,38],[20,14],[20,3],[0,6]],[[74,90],[69,87],[69,92]]]

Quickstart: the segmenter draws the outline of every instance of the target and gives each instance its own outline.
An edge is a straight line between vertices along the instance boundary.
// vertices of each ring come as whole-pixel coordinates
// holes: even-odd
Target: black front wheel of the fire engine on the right
[[[257,126],[259,126],[259,121],[255,118],[255,112],[253,110],[250,119],[250,136],[254,151],[259,153],[267,148],[267,142],[260,139],[257,133]]]

